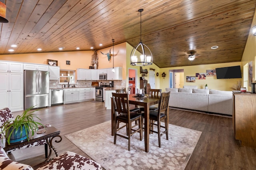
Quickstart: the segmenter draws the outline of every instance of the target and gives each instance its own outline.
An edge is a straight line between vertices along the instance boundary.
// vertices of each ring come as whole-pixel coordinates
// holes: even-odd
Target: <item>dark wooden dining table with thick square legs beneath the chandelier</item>
[[[145,152],[149,151],[149,106],[154,104],[158,104],[160,101],[160,96],[148,96],[147,94],[144,97],[137,97],[136,94],[129,94],[128,100],[129,104],[135,106],[142,106],[144,107],[144,141],[145,141]],[[167,113],[168,110],[167,110]],[[111,135],[115,135],[115,118],[116,118],[116,111],[114,109],[113,98],[111,99]],[[169,120],[167,114],[167,121]],[[168,124],[168,122],[167,122]]]

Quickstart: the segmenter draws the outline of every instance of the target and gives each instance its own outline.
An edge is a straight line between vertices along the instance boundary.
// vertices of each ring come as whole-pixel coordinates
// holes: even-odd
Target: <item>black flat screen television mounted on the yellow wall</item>
[[[242,78],[240,66],[230,66],[215,68],[217,79],[222,78]]]

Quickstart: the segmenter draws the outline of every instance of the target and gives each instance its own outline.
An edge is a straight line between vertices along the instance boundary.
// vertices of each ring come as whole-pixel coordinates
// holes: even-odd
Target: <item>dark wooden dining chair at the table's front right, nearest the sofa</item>
[[[150,132],[158,134],[158,146],[161,148],[161,136],[166,134],[166,140],[168,140],[168,121],[167,110],[169,104],[170,92],[164,92],[161,94],[161,99],[158,104],[158,111],[149,111],[150,120]],[[161,121],[164,120],[164,126],[161,125]],[[157,126],[157,131],[154,131],[153,125]],[[160,132],[160,129],[164,128],[164,132]]]

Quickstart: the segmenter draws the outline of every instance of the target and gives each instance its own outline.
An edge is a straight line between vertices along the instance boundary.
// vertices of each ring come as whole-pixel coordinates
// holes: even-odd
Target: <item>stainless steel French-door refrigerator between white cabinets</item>
[[[24,109],[49,106],[48,71],[24,70]]]

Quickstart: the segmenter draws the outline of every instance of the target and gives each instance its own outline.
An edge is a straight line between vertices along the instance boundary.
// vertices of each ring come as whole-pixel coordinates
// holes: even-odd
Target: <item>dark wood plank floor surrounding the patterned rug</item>
[[[13,112],[14,116],[21,113],[22,111]],[[105,109],[104,102],[96,101],[47,107],[38,111],[38,114],[42,123],[49,123],[61,131],[62,142],[54,144],[59,154],[69,150],[86,157],[89,156],[64,135],[111,119],[110,110]],[[170,109],[169,114],[171,124],[202,131],[185,170],[256,169],[256,150],[240,146],[239,141],[234,139],[232,118],[178,109]],[[12,152],[10,158],[35,166],[44,161],[44,147],[17,150]]]

